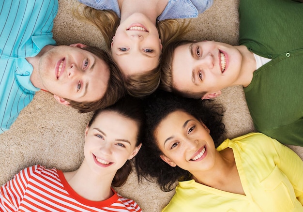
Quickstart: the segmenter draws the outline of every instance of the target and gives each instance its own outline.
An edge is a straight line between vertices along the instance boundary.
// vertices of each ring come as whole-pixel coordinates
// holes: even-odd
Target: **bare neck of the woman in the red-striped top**
[[[111,182],[114,175],[115,173],[97,174],[92,172],[85,161],[76,171],[64,173],[66,181],[74,191],[91,201],[103,201],[113,195]]]

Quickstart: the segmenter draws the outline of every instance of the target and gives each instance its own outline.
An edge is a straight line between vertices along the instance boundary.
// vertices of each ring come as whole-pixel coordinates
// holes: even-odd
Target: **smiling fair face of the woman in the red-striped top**
[[[85,131],[84,156],[91,170],[112,173],[139,151],[138,125],[114,111],[103,111]],[[101,171],[101,172],[100,172]]]

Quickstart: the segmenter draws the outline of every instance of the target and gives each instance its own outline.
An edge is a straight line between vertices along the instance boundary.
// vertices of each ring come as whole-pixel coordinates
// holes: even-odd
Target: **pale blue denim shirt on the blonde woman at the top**
[[[113,10],[119,17],[118,0],[79,0],[97,10]],[[194,18],[212,6],[213,0],[168,0],[167,6],[157,20]]]

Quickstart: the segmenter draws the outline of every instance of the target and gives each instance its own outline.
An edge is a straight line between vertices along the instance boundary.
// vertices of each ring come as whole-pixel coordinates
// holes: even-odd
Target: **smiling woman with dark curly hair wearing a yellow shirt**
[[[138,174],[176,194],[164,212],[303,211],[303,161],[260,133],[226,139],[223,108],[157,92],[147,99]]]

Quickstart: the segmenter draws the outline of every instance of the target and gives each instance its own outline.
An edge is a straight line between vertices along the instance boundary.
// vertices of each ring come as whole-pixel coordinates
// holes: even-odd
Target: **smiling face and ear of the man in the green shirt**
[[[214,41],[178,46],[172,61],[173,87],[215,97],[221,89],[239,84],[241,64],[242,54],[236,46]]]

